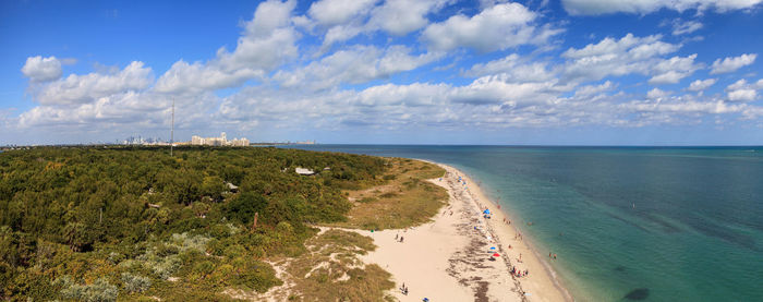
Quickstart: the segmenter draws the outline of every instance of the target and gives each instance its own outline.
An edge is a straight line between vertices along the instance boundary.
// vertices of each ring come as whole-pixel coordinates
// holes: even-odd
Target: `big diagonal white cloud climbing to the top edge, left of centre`
[[[296,57],[298,34],[291,25],[294,5],[294,1],[278,0],[261,3],[232,52],[220,48],[206,63],[180,60],[159,77],[156,90],[199,93],[238,86]]]

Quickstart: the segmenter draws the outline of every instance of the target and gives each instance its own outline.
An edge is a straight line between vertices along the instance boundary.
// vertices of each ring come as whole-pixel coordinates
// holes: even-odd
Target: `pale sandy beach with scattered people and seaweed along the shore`
[[[378,246],[362,259],[393,275],[392,294],[400,301],[571,301],[538,253],[505,222],[507,215],[476,183],[452,167],[439,166],[447,173],[432,182],[448,190],[449,201],[434,221],[404,230],[356,230]],[[491,219],[484,217],[485,208]],[[494,253],[499,256],[493,261]],[[529,274],[517,277],[512,267]],[[400,290],[403,283],[408,294]]]

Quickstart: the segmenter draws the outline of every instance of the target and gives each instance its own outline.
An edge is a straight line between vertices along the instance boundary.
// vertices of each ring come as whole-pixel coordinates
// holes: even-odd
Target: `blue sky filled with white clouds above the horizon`
[[[761,2],[0,1],[0,145],[763,145]]]

